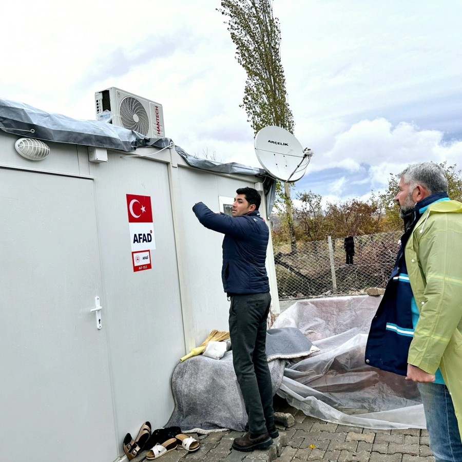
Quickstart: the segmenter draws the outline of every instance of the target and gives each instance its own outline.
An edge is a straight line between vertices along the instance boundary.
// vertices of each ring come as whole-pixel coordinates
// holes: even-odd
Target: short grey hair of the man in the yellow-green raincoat
[[[424,186],[429,194],[448,192],[448,179],[445,170],[433,162],[412,164],[398,174],[398,178],[402,178],[405,184],[409,184],[410,189],[419,184]]]

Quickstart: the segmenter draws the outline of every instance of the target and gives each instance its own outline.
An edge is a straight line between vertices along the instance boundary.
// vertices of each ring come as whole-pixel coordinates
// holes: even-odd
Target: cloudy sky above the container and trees
[[[94,92],[161,103],[186,152],[258,166],[245,73],[218,0],[2,5],[0,98],[94,119]],[[298,190],[384,190],[409,163],[462,168],[462,2],[274,0],[295,136],[315,152]]]

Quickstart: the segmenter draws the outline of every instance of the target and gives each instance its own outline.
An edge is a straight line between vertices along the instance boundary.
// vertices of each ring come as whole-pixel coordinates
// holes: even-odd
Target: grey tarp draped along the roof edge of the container
[[[0,99],[0,128],[8,133],[27,138],[119,149],[127,152],[148,146],[164,148],[172,143],[169,138],[146,138],[136,131],[105,122],[72,119],[66,115],[45,112],[28,104],[5,99]],[[268,216],[271,214],[276,194],[276,181],[268,177],[265,170],[235,162],[221,164],[207,159],[197,159],[179,146],[175,146],[175,149],[193,167],[226,174],[265,177],[264,192],[267,213]]]

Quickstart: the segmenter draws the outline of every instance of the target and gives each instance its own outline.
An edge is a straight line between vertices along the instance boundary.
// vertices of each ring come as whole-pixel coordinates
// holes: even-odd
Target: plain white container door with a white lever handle
[[[118,459],[93,181],[0,168],[0,224],[3,458]]]

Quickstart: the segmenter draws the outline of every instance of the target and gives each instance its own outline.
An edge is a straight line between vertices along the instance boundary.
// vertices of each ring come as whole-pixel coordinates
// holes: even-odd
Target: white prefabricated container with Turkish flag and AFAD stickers
[[[4,451],[9,462],[126,460],[125,434],[163,426],[174,409],[179,358],[228,330],[222,235],[191,207],[223,209],[262,180],[191,167],[173,147],[127,155],[47,141],[33,161],[15,149],[21,136],[0,131]],[[140,197],[150,226],[129,221]],[[138,233],[144,253],[132,226],[152,228]],[[277,311],[272,252],[270,242]]]

